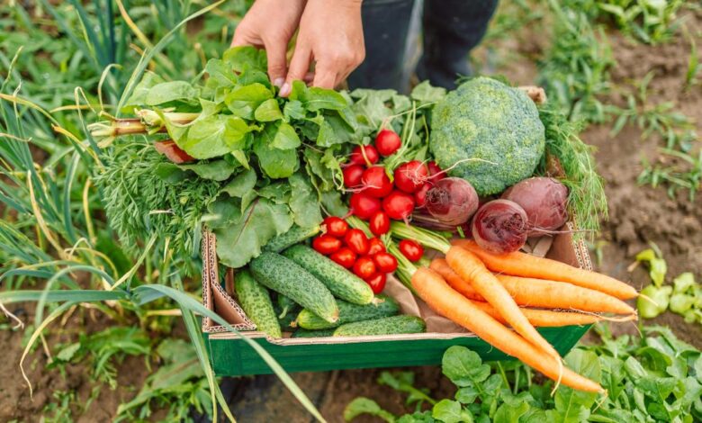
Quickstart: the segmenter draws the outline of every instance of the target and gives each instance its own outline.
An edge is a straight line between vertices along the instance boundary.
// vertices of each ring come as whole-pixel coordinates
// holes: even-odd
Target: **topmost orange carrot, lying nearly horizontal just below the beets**
[[[455,246],[463,247],[480,257],[485,266],[493,272],[507,275],[536,277],[552,281],[563,281],[602,293],[608,293],[619,300],[629,300],[638,296],[636,290],[608,275],[568,266],[549,258],[534,257],[525,253],[492,254],[485,251],[472,239],[457,239]]]

